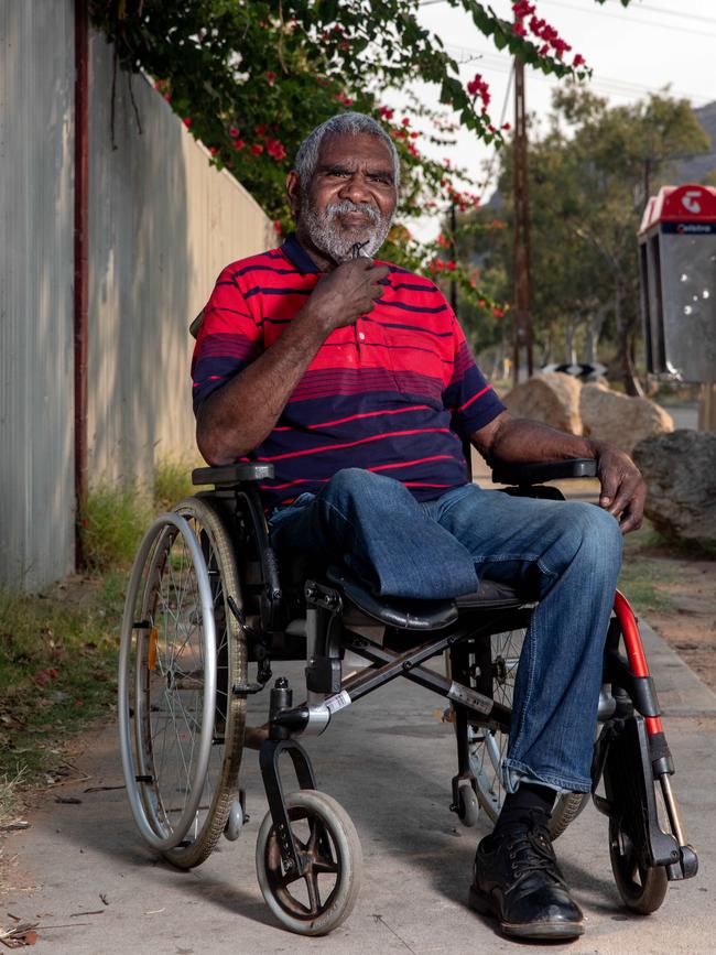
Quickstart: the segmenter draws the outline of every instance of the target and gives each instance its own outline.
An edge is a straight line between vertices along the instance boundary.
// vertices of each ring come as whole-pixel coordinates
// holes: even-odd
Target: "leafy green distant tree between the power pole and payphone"
[[[640,391],[632,354],[639,327],[637,231],[649,194],[669,181],[684,154],[706,152],[708,137],[690,104],[668,94],[609,107],[588,89],[555,91],[547,130],[533,129],[529,191],[532,314],[544,360],[564,344],[573,360],[577,337],[596,360],[600,337],[614,340],[629,394]],[[500,153],[500,217],[508,229],[485,231],[493,216],[464,217],[463,260],[481,263],[480,283],[510,299],[512,151]],[[476,228],[480,228],[476,236]]]

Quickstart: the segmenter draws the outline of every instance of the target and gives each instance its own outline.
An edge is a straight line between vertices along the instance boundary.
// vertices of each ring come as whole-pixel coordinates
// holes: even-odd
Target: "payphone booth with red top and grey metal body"
[[[664,186],[639,229],[647,368],[716,381],[716,188]]]

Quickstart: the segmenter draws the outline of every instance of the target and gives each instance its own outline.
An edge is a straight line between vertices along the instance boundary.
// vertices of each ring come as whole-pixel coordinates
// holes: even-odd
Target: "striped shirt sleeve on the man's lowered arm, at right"
[[[453,431],[466,441],[470,434],[485,427],[506,408],[477,367],[465,340],[465,334],[454,315],[452,322],[455,357],[453,376],[443,392],[443,401],[445,408],[452,412]]]

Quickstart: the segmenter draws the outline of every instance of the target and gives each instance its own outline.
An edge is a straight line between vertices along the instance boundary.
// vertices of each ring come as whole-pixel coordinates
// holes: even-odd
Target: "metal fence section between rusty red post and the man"
[[[95,35],[89,106],[90,486],[147,478],[162,455],[197,455],[188,323],[227,262],[274,241],[257,203],[209,164],[204,148],[141,76],[118,74],[112,137],[111,73],[110,48]]]

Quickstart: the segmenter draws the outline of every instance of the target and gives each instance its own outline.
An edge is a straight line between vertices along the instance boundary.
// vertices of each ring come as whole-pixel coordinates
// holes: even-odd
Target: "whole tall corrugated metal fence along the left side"
[[[90,40],[89,481],[194,454],[187,324],[273,241],[257,203]],[[0,0],[0,582],[73,567],[74,2]],[[141,130],[140,130],[141,126]]]

